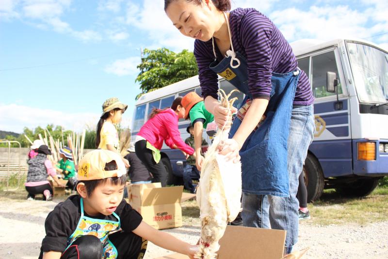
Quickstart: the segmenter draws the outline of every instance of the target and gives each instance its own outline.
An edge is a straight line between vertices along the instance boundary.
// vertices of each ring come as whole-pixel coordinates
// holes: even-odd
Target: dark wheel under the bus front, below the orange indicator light
[[[356,182],[336,188],[336,191],[348,196],[364,197],[369,195],[377,187],[379,180],[380,177],[358,179]]]

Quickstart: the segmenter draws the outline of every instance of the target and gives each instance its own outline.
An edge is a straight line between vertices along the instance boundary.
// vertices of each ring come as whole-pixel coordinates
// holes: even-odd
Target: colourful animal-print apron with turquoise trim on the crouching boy
[[[85,235],[96,236],[103,244],[102,259],[117,258],[117,249],[113,243],[108,239],[110,232],[120,228],[120,218],[113,212],[113,216],[117,221],[99,220],[86,217],[83,213],[83,199],[81,198],[81,218],[77,224],[76,230],[67,239],[66,249],[79,237]],[[65,249],[65,250],[66,250]]]

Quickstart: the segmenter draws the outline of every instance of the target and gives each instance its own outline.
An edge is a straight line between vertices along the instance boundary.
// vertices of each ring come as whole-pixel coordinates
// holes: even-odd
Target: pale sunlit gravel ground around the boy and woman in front
[[[0,199],[0,259],[36,259],[40,243],[45,236],[44,222],[47,214],[60,202],[26,201],[1,197]],[[178,238],[195,243],[199,225],[163,230]],[[309,247],[304,258],[388,258],[388,220],[385,222],[356,225],[300,224],[299,242],[295,249]],[[152,259],[171,252],[148,244],[145,259]]]

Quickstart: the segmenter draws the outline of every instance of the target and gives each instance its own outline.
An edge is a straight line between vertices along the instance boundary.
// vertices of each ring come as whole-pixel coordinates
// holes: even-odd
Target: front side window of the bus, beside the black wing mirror
[[[314,97],[321,98],[321,97],[336,95],[336,93],[329,93],[326,91],[326,72],[327,71],[335,72],[337,74],[338,94],[342,94],[342,87],[339,82],[339,74],[338,74],[334,51],[313,56],[311,58],[311,62],[312,62],[311,86],[312,86],[312,92],[314,94]]]

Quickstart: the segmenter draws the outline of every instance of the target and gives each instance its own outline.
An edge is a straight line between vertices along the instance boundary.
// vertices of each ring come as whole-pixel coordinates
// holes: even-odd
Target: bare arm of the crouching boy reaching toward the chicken
[[[194,258],[194,254],[195,252],[197,252],[198,249],[196,245],[191,245],[189,243],[177,239],[169,233],[156,230],[155,228],[151,227],[143,221],[132,232],[156,244],[157,246],[180,254],[187,255],[192,259]]]

